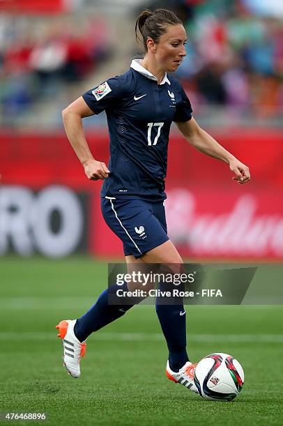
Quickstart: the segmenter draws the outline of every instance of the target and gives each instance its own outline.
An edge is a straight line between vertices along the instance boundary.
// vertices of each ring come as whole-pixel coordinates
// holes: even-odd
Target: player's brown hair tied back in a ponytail
[[[144,49],[147,51],[146,41],[148,37],[152,38],[156,43],[160,36],[166,33],[167,26],[183,24],[174,12],[167,9],[144,10],[137,18],[135,24],[136,40],[143,42]],[[142,39],[137,33],[137,29],[142,34]]]

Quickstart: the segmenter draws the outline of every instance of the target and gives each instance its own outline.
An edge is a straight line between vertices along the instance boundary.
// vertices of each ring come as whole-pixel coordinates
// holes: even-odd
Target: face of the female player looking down
[[[169,25],[155,45],[155,59],[163,71],[174,72],[186,55],[187,35],[183,25]]]

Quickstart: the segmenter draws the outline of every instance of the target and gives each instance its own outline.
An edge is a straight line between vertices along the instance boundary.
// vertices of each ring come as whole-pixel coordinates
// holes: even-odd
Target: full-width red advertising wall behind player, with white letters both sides
[[[213,136],[250,166],[252,180],[245,185],[237,184],[231,180],[232,175],[226,164],[201,155],[183,138],[173,135],[169,144],[168,198],[165,202],[169,237],[181,254],[190,258],[282,260],[282,134],[270,131],[236,131]],[[107,163],[107,133],[89,134],[88,141],[95,157]],[[87,246],[93,255],[123,255],[121,242],[102,219],[99,196],[101,182],[90,182],[86,179],[66,136],[2,133],[0,159],[0,242],[3,235],[6,235],[7,239],[10,238],[10,244],[6,244],[5,250],[1,250],[0,244],[1,253],[6,253],[8,247],[20,252],[18,248],[21,246],[21,237],[19,232],[15,233],[15,229],[22,227],[28,235],[29,226],[26,224],[28,221],[23,224],[23,219],[22,222],[19,219],[24,217],[23,212],[26,212],[26,217],[33,217],[34,212],[48,205],[47,212],[40,210],[40,216],[46,217],[46,221],[41,225],[45,228],[47,240],[49,238],[52,244],[56,244],[57,237],[61,244],[61,251],[54,248],[54,251],[59,253],[54,255],[75,251],[82,245],[82,241],[84,247]],[[17,220],[13,212],[7,216],[8,209],[9,212],[13,210],[7,201],[13,188],[22,188],[22,191],[17,193],[21,194],[17,199],[22,200],[21,207],[18,207],[22,213],[18,214]],[[36,191],[36,195],[31,196],[26,189],[33,190],[33,193]],[[50,194],[55,196],[60,191],[66,202],[52,201]],[[6,194],[5,202],[3,194]],[[12,198],[13,196],[10,196],[9,199]],[[33,199],[33,202],[26,201],[28,199]],[[28,207],[23,207],[24,203],[27,203]],[[70,215],[70,209],[65,211],[64,205],[73,205],[77,214]],[[67,247],[69,240],[66,239],[66,228],[65,237],[63,230],[62,234],[58,230],[58,235],[54,234],[54,230],[50,230],[48,234],[48,218],[52,215],[52,208],[54,211],[61,209],[61,225],[69,223],[72,227],[75,223],[77,232],[83,232],[85,228],[84,237],[79,237],[78,233],[77,239],[72,240],[72,248]],[[29,210],[33,212],[33,216],[29,214]],[[85,214],[79,213],[81,210]],[[6,218],[5,229],[3,218]],[[86,222],[84,226],[82,220]],[[10,226],[10,237],[7,223]],[[15,223],[15,229],[11,223]],[[35,219],[30,225],[31,233],[34,232],[36,241],[39,241],[38,250],[52,255],[52,245],[46,248],[43,244],[43,235],[38,223]],[[43,246],[45,248],[40,248]]]

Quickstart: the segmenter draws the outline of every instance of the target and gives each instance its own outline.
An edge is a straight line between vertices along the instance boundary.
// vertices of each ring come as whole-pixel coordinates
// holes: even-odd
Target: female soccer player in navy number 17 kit
[[[90,180],[103,180],[102,214],[107,225],[123,242],[125,261],[181,265],[182,259],[167,236],[165,176],[169,130],[174,121],[185,139],[216,159],[225,161],[240,184],[250,180],[249,169],[197,125],[181,84],[167,75],[181,65],[186,33],[176,15],[164,9],[144,11],[136,22],[145,55],[132,61],[130,70],[84,93],[63,110],[66,134]],[[106,111],[111,157],[108,167],[95,159],[84,136],[82,118]],[[146,237],[145,237],[146,236]],[[85,340],[132,308],[118,297],[117,285],[102,292],[82,317],[63,320],[56,328],[63,342],[64,365],[79,377],[79,361]],[[132,284],[122,286],[132,290]],[[109,294],[112,304],[108,303]],[[196,391],[194,368],[186,352],[183,300],[165,305],[156,300],[156,311],[167,341],[167,377]]]

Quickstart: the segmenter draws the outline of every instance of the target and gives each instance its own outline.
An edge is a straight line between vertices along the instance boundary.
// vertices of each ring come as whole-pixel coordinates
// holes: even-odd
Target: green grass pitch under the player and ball
[[[55,325],[93,304],[107,264],[11,256],[0,259],[0,280],[2,413],[45,412],[43,423],[68,426],[283,425],[282,306],[187,306],[192,361],[227,352],[245,370],[234,402],[211,402],[165,377],[153,306],[136,306],[93,334],[82,376],[66,374]]]

